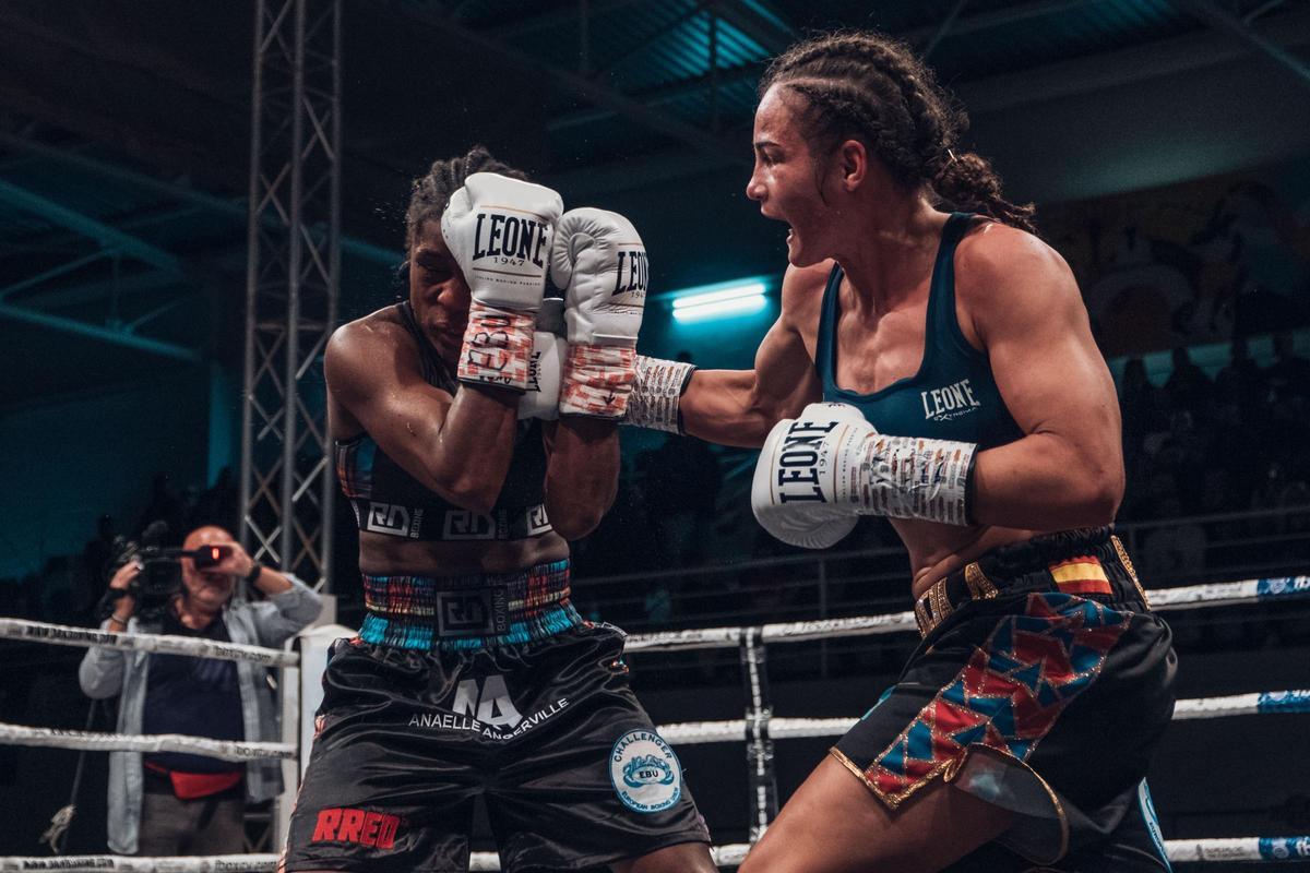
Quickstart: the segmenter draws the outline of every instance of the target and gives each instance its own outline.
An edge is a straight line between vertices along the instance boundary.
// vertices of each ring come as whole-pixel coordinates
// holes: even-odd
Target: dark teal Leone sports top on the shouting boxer
[[[973,219],[954,212],[946,220],[927,293],[927,329],[918,373],[880,391],[859,394],[837,386],[837,317],[841,267],[833,266],[819,317],[815,368],[823,399],[849,403],[880,433],[976,442],[980,449],[1023,436],[992,377],[986,355],[969,346],[955,318],[955,247]]]

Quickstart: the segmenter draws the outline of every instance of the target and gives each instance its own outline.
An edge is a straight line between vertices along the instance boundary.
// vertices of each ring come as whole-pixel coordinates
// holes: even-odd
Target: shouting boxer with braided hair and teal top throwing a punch
[[[883,35],[777,58],[747,195],[790,225],[778,321],[751,370],[638,359],[627,420],[762,446],[774,537],[878,514],[909,552],[922,645],[743,873],[1169,869],[1144,777],[1175,656],[1110,529],[1115,387],[965,123]]]

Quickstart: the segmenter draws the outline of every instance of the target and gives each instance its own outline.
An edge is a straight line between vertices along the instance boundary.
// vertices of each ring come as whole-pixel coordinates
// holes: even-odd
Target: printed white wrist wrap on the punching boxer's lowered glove
[[[857,471],[857,500],[876,516],[968,525],[976,452],[973,442],[870,435]]]

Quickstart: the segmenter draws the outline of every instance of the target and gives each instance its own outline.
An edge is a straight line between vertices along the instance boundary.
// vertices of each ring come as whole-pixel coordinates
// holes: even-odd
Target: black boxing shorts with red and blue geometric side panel
[[[1015,813],[952,873],[1170,869],[1145,777],[1176,657],[1119,539],[997,548],[914,613],[922,643],[831,754],[891,810],[942,779]]]

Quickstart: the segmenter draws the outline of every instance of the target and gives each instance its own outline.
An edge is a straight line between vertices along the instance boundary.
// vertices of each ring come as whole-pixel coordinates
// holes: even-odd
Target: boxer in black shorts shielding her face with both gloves
[[[612,294],[616,234],[639,245],[474,148],[414,182],[406,298],[333,334],[365,614],[329,657],[286,870],[466,870],[482,798],[510,873],[714,872],[624,633],[570,598],[567,541],[617,488],[621,391],[574,408],[561,389],[621,382],[605,360],[567,364],[575,346],[631,357],[641,322],[641,294]],[[567,301],[544,298],[548,271]]]

